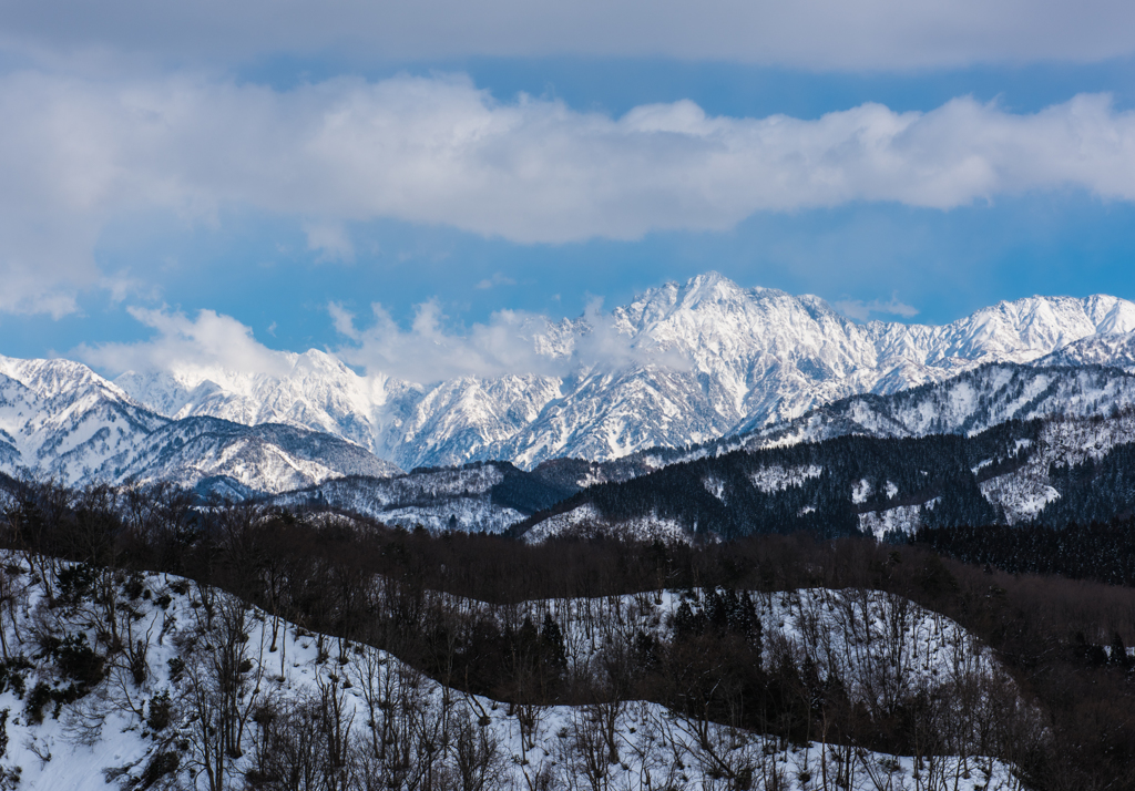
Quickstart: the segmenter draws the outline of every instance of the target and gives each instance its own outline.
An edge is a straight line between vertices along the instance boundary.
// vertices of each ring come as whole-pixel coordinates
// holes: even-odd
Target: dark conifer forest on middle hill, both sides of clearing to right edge
[[[1009,421],[973,437],[848,436],[734,451],[592,486],[515,525],[513,535],[585,504],[613,523],[673,520],[688,532],[726,539],[800,530],[855,536],[860,514],[899,506],[920,508],[919,520],[927,528],[1004,524],[1004,512],[982,494],[981,485],[1019,470],[1036,452],[1042,426]],[[1129,516],[1135,507],[1133,462],[1135,445],[1120,444],[1098,461],[1051,464],[1049,483],[1059,497],[1028,522],[1063,527]],[[755,485],[770,469],[796,477],[776,486]],[[852,493],[861,481],[869,494],[856,502]]]

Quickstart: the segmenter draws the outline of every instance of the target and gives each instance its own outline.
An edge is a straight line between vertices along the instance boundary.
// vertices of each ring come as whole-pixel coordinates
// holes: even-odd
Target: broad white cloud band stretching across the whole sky
[[[1135,200],[1135,113],[1079,95],[1015,115],[961,98],[814,120],[622,118],[499,102],[464,77],[339,78],[275,91],[203,77],[0,77],[0,310],[74,309],[100,229],[132,211],[296,218],[327,259],[346,224],[394,218],[519,243],[726,229],[760,211],[852,201],[950,209],[1078,188]]]

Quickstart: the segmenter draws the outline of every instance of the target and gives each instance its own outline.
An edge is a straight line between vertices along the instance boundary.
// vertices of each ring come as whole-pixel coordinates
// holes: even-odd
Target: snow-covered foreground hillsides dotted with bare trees
[[[792,746],[644,701],[537,707],[466,696],[380,650],[310,633],[166,574],[111,580],[126,592],[117,594],[123,598],[109,623],[128,648],[89,693],[72,700],[68,690],[90,670],[85,649],[103,650],[107,637],[92,625],[100,605],[75,595],[93,578],[66,564],[56,573],[43,557],[2,559],[7,752],[0,765],[5,782],[18,777],[19,789],[167,788],[175,781],[239,789],[263,776],[258,773],[278,772],[279,761],[302,764],[320,750],[342,760],[311,764],[295,788],[802,791],[821,788],[821,779],[864,791],[1019,788],[1010,767],[980,756],[917,766],[844,746]],[[44,580],[57,581],[53,607]],[[586,663],[604,640],[628,630],[667,630],[681,597],[532,601],[499,616],[552,612],[568,621],[571,612],[597,613],[602,617],[572,620],[578,625],[564,636],[570,660]],[[762,595],[759,609],[766,650],[809,653],[857,679],[854,697],[945,684],[959,668],[998,672],[957,624],[882,594],[777,592]],[[36,658],[43,643],[54,664]],[[56,675],[60,666],[68,678]],[[220,671],[234,683],[217,683]]]

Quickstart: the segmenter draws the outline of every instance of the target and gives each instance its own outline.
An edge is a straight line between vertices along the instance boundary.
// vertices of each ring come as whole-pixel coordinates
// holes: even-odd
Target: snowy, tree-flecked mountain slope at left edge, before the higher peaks
[[[338,436],[213,418],[170,420],[85,365],[0,357],[0,471],[69,485],[169,480],[276,493],[401,470]]]

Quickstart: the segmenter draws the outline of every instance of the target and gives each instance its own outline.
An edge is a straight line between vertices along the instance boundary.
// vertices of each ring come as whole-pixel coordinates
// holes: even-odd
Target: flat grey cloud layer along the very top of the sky
[[[674,57],[808,69],[1096,61],[1135,50],[1123,0],[7,0],[0,44],[45,62],[108,53],[197,66],[336,52]]]

